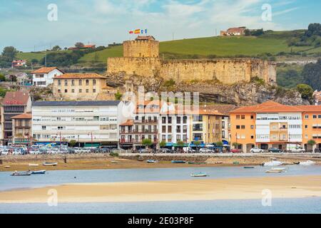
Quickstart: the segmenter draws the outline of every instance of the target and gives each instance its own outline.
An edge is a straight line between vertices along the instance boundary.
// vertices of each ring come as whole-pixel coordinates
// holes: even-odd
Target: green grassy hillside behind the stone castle
[[[213,58],[238,56],[263,56],[266,53],[272,56],[302,53],[305,56],[320,55],[321,47],[287,45],[289,38],[300,36],[305,30],[297,31],[267,31],[263,36],[230,36],[188,38],[177,41],[160,43],[161,58]],[[49,53],[49,52],[47,52]],[[19,53],[18,58],[31,61],[32,58],[44,58],[44,52]],[[123,56],[122,46],[113,46],[103,51],[88,53],[78,61],[80,66],[91,66],[93,63],[106,63],[108,57]]]

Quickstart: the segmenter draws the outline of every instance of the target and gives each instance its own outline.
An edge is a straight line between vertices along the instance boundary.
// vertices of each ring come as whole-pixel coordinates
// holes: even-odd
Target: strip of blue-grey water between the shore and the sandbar
[[[321,166],[287,166],[287,172],[267,174],[270,167],[188,167],[158,169],[125,169],[125,170],[59,170],[49,171],[46,175],[11,177],[11,172],[0,172],[0,191],[46,187],[66,183],[90,182],[139,182],[158,180],[195,180],[190,177],[193,172],[206,172],[209,179],[230,177],[275,177],[289,175],[321,175]],[[75,178],[76,177],[76,178]]]

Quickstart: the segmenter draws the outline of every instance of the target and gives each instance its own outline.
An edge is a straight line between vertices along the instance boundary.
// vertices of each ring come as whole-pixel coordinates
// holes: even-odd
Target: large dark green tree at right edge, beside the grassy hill
[[[305,65],[302,77],[305,84],[311,86],[314,90],[321,90],[321,59],[317,63]]]

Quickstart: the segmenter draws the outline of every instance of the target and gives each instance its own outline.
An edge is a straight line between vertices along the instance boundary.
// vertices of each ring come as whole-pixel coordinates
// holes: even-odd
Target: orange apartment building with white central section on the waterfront
[[[267,101],[231,111],[230,123],[231,144],[237,142],[243,152],[250,152],[253,147],[287,150],[290,145],[302,146],[305,150],[321,148],[320,106]],[[309,140],[314,140],[316,145],[309,145]]]

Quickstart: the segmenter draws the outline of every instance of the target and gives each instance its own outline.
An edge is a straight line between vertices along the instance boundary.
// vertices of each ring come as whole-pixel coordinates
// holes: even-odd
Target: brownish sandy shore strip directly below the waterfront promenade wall
[[[63,158],[66,157],[65,163]],[[108,170],[108,169],[135,169],[135,168],[166,168],[166,167],[220,167],[220,166],[243,166],[261,165],[270,161],[270,157],[285,164],[293,164],[301,160],[314,160],[321,165],[321,155],[122,155],[121,157],[111,157],[106,154],[81,154],[81,155],[13,155],[0,156],[0,172],[26,171],[26,170]],[[141,161],[139,161],[140,159]],[[147,163],[146,160],[158,160],[157,163]],[[195,162],[205,162],[200,165],[173,164],[170,160],[185,160]],[[116,161],[118,163],[113,163]],[[55,167],[44,167],[43,162],[58,162]],[[238,164],[234,164],[238,162]],[[39,167],[29,167],[29,164],[39,164]],[[7,167],[9,166],[9,168]]]

